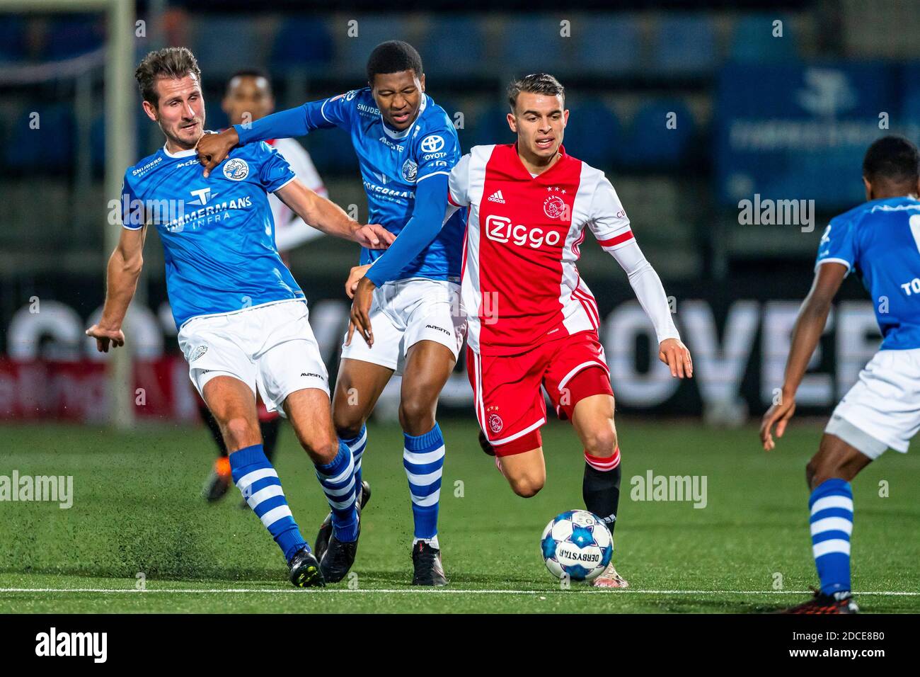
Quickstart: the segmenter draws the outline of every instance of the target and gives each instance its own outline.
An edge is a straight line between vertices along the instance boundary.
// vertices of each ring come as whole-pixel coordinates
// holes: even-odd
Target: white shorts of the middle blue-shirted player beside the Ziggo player
[[[466,336],[460,286],[449,280],[409,277],[387,282],[374,289],[370,317],[373,347],[355,331],[351,345],[342,344],[342,358],[371,362],[397,374],[402,374],[408,349],[420,341],[446,346],[455,360]]]

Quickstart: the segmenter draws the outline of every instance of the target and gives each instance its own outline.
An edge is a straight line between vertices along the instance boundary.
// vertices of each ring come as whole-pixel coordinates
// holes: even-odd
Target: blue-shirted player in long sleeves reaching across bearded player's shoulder
[[[362,251],[346,287],[351,296],[363,274],[361,293],[372,294],[370,321],[374,338],[342,346],[333,420],[339,437],[351,447],[361,477],[360,458],[367,446],[364,426],[394,372],[402,373],[399,422],[404,432],[403,465],[408,476],[414,518],[413,585],[446,585],[438,543],[438,505],[444,440],[435,420],[438,396],[454,370],[466,333],[459,302],[459,279],[466,211],[445,219],[447,178],[460,159],[454,124],[425,94],[419,53],[402,41],[383,42],[367,62],[368,87],[310,101],[269,115],[250,125],[235,125],[205,136],[198,145],[206,172],[238,144],[302,136],[340,127],[351,134],[361,165],[369,220],[394,235],[397,250],[380,261],[379,251]],[[425,228],[438,236],[408,266],[401,268]],[[418,250],[418,248],[416,248]],[[365,325],[366,326],[366,325]],[[372,348],[373,344],[373,348]],[[362,505],[369,496],[362,483]],[[316,552],[328,540],[330,522],[320,528]]]

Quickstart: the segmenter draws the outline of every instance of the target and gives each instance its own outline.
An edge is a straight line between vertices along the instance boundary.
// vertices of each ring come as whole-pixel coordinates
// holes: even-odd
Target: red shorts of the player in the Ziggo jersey
[[[546,400],[541,385],[562,419],[570,419],[586,397],[614,394],[604,347],[592,331],[549,341],[521,355],[482,356],[467,347],[466,373],[479,426],[497,456],[542,446]]]

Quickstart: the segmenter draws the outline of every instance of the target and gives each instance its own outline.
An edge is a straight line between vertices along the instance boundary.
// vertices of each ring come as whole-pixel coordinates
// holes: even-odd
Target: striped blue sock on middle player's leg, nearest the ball
[[[412,496],[415,541],[431,540],[438,534],[438,501],[441,497],[441,471],[444,465],[444,438],[437,423],[424,435],[403,433],[403,466]]]

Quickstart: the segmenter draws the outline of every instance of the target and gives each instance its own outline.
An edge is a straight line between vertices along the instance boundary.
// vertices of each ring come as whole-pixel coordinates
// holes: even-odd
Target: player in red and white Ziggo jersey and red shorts
[[[513,82],[508,94],[517,143],[475,146],[451,171],[447,194],[454,208],[470,209],[463,301],[480,441],[514,493],[534,496],[546,482],[545,387],[581,439],[585,507],[613,531],[621,474],[614,394],[597,335],[597,304],[575,265],[586,227],[627,272],[673,377],[692,376],[693,365],[661,280],[639,250],[610,181],[561,146],[569,120],[565,90],[555,77],[536,74]],[[431,221],[415,227],[424,233],[422,246],[439,230]],[[375,268],[415,253],[394,245]],[[376,321],[368,320],[368,293],[379,281],[365,275],[355,292],[351,319],[365,335]],[[594,585],[627,587],[613,563],[604,564]]]

